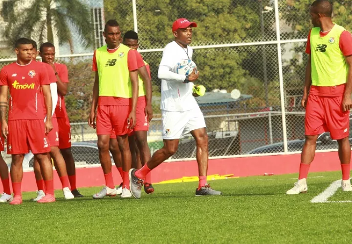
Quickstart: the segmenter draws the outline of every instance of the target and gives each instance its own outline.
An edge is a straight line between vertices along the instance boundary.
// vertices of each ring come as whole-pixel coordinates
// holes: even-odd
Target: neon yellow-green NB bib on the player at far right
[[[345,28],[335,24],[325,37],[320,37],[320,28],[310,32],[312,85],[335,86],[347,81],[348,65],[340,50],[339,41]]]

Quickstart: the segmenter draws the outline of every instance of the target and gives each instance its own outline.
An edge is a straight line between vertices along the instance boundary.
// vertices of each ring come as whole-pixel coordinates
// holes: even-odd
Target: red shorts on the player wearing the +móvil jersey
[[[7,154],[50,152],[43,120],[15,120],[8,122]]]

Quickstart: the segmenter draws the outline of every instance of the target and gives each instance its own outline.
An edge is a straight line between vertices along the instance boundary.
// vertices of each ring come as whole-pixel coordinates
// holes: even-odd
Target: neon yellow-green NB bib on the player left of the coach
[[[130,48],[121,44],[109,53],[107,45],[98,48],[95,57],[99,74],[99,96],[132,98],[127,56]]]

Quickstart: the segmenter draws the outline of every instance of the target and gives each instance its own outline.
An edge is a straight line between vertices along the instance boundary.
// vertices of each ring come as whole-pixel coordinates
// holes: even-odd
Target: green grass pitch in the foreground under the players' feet
[[[195,197],[197,183],[156,184],[142,199],[86,198],[0,205],[0,243],[351,244],[352,203],[310,203],[340,172],[312,173],[308,193],[287,196],[297,175],[210,182],[223,196]],[[35,193],[24,193],[30,199]],[[333,201],[352,200],[339,189]]]

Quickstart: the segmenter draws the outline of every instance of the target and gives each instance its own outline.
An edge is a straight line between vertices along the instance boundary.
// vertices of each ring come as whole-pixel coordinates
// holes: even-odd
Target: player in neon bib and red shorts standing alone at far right
[[[306,109],[306,142],[301,154],[298,181],[287,194],[306,192],[309,165],[314,159],[318,135],[329,131],[338,143],[343,191],[352,191],[350,182],[350,109],[352,108],[352,36],[332,22],[332,5],[316,0],[310,6],[314,26],[309,31],[302,107]]]

